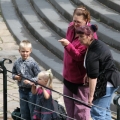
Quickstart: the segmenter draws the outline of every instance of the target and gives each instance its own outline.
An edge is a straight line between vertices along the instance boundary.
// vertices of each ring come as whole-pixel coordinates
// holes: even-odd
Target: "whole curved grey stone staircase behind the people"
[[[120,70],[119,0],[1,0],[1,10],[18,43],[30,40],[33,57],[62,80],[64,48],[58,40],[65,37],[73,10],[81,4],[89,9],[99,39],[109,46]]]

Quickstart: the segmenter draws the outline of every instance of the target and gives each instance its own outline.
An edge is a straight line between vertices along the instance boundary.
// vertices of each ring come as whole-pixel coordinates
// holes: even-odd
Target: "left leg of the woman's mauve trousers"
[[[69,97],[73,97],[73,93],[69,91],[65,85],[63,89],[63,94]],[[67,116],[74,118],[74,101],[64,97],[64,103],[67,111]],[[71,120],[71,119],[67,118],[67,120]]]

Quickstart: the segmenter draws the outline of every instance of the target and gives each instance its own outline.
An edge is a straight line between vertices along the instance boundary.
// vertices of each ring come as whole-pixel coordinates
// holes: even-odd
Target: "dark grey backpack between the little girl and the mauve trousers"
[[[63,115],[57,114],[57,117],[58,117],[57,120],[66,120],[67,114],[66,114],[64,107],[62,105],[58,104],[58,101],[56,101],[56,100],[53,100],[53,106],[54,106],[54,111],[65,115],[65,116],[63,116]]]

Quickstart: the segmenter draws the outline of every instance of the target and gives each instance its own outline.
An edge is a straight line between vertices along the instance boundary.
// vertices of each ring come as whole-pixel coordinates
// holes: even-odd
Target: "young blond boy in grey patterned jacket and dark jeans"
[[[37,81],[37,75],[40,72],[38,64],[30,57],[31,51],[32,44],[28,40],[23,40],[19,45],[21,57],[15,61],[12,69],[12,77],[18,81],[19,86],[21,118],[26,120],[32,120],[33,105],[29,102],[33,102],[34,97],[31,93],[32,82],[25,78]],[[24,83],[24,80],[28,81],[27,84]]]

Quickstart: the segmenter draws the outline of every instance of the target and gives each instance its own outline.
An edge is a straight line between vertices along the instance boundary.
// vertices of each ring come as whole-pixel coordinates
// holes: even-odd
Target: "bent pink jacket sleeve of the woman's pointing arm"
[[[87,47],[85,47],[84,45],[80,45],[77,48],[75,48],[71,43],[69,43],[65,47],[65,49],[74,60],[83,61]]]

